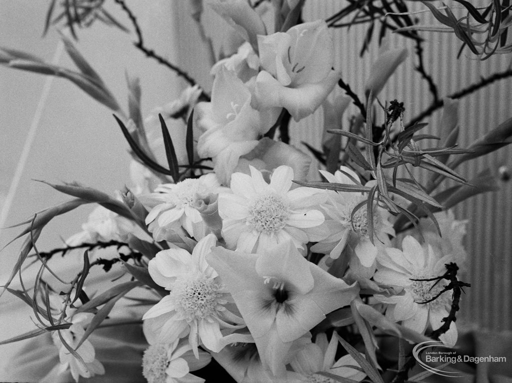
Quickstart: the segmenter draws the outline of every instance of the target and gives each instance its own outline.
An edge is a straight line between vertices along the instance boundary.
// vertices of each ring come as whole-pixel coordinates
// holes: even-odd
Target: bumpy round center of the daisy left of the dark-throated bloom
[[[187,322],[214,315],[227,302],[222,298],[221,286],[203,273],[178,278],[170,296],[176,311]]]

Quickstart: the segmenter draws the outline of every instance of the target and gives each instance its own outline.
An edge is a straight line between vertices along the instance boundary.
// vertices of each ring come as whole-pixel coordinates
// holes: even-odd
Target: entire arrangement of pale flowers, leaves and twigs
[[[63,19],[72,35],[97,19],[125,28],[103,1],[71,3],[52,2],[47,29]],[[457,146],[456,124],[447,124],[442,138],[423,133],[429,111],[406,124],[407,103],[378,98],[407,50],[379,57],[361,101],[336,69],[329,27],[359,9],[370,18],[385,10],[387,28],[408,20],[392,29],[410,38],[439,28],[415,25],[401,1],[390,2],[399,12],[370,12],[355,1],[327,20],[304,22],[304,0],[210,0],[239,43],[216,56],[208,94],[145,47],[136,16],[115,3],[133,22],[135,47],[190,86],[144,119],[138,82],[129,81],[125,114],[64,34],[78,72],[0,51],[2,64],[66,78],[112,109],[134,159],[133,187],[114,195],[48,183],[73,199],[17,225],[25,241],[0,295],[29,305],[36,327],[3,343],[33,338],[25,358],[46,350],[32,361],[41,381],[423,380],[427,374],[411,373],[412,345],[454,346],[461,295],[470,287],[457,274],[467,261],[466,221],[450,209],[496,187],[485,171],[467,180],[456,168],[509,143],[512,119],[467,148]],[[463,29],[450,8],[444,16],[433,3],[424,2],[426,10],[480,58],[509,51],[498,41],[509,25],[505,5],[494,1],[480,12],[460,1],[468,12]],[[191,4],[201,28],[202,2]],[[264,12],[273,16],[270,25]],[[477,41],[484,25],[487,38]],[[418,72],[429,78],[422,65]],[[358,113],[347,128],[350,102]],[[304,153],[289,144],[289,124],[319,108],[324,126],[311,129],[325,134],[324,145]],[[169,132],[174,122],[180,142]],[[148,126],[159,134],[151,136]],[[425,144],[432,140],[435,146]],[[426,174],[425,185],[413,168]],[[65,247],[39,251],[46,224],[84,204],[98,206],[83,231]],[[105,249],[116,251],[105,258]],[[76,251],[82,267],[68,281],[54,256]],[[22,280],[14,288],[29,263],[39,265],[34,284]],[[109,283],[96,290],[88,277],[99,268]],[[393,356],[383,356],[385,347]]]

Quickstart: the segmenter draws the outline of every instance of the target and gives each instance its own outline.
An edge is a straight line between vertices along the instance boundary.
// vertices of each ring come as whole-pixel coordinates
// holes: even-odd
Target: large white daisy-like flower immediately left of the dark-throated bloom
[[[183,249],[170,249],[159,252],[150,261],[151,277],[170,292],[142,317],[149,343],[156,340],[173,343],[188,335],[190,346],[198,356],[200,343],[218,352],[231,341],[251,341],[247,336],[224,336],[221,332],[221,328],[234,330],[245,325],[225,307],[229,295],[218,274],[206,262],[206,255],[216,243],[215,235],[209,234],[198,242],[192,254]]]

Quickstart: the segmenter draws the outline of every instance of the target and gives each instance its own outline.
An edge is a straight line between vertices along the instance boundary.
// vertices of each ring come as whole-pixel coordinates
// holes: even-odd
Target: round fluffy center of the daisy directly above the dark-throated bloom
[[[283,229],[289,216],[286,201],[279,195],[267,194],[255,200],[246,222],[253,230],[271,234]]]

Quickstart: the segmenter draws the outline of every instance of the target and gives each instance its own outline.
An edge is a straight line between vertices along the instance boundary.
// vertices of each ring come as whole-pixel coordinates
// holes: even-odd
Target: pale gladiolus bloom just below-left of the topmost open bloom
[[[221,67],[214,80],[211,102],[196,107],[202,132],[198,154],[211,157],[220,182],[228,184],[240,156],[249,153],[278,118],[279,109],[264,113],[250,105],[251,93],[234,72]]]

